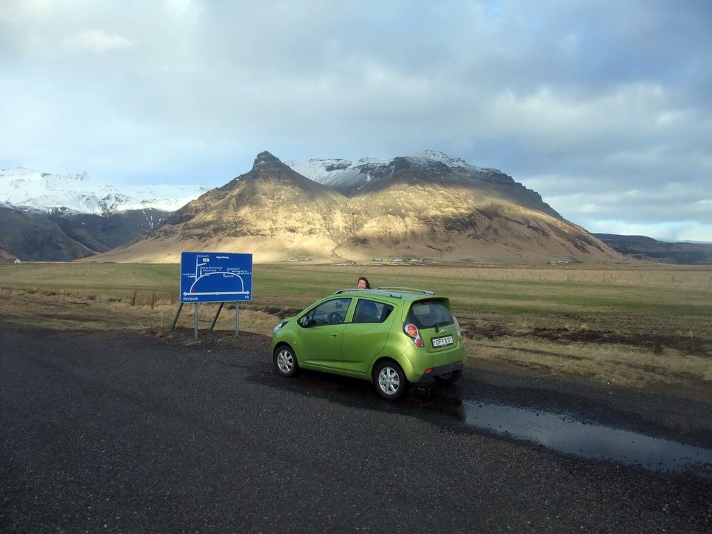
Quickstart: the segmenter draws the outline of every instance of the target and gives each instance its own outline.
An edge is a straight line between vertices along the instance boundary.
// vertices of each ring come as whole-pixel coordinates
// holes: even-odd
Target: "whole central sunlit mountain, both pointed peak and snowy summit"
[[[93,261],[179,261],[248,252],[256,263],[422,259],[454,263],[629,262],[496,169],[441,152],[311,159],[269,152],[252,169]]]

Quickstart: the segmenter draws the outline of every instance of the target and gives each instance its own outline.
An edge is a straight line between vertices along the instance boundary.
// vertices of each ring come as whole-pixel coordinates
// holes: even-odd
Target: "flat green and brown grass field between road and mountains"
[[[269,335],[278,317],[352,286],[364,268],[256,265],[241,328]],[[471,357],[626,387],[676,384],[712,397],[712,268],[372,264],[365,275],[373,287],[448,295]],[[179,266],[1,265],[0,296],[3,317],[19,323],[167,330],[179,303]],[[199,305],[200,328],[215,310]],[[193,320],[187,306],[178,324],[192,328]],[[222,313],[216,329],[234,330],[234,313]]]

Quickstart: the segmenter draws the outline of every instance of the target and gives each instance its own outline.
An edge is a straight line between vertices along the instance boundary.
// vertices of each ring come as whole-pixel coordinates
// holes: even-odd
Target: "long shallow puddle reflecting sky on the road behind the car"
[[[481,402],[463,402],[462,406],[466,424],[495,434],[586,459],[712,477],[709,449],[585,423],[562,414]]]

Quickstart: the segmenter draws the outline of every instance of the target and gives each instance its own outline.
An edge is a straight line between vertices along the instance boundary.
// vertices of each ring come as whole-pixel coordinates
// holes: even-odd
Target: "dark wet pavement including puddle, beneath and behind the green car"
[[[299,381],[309,389],[322,389],[335,402],[365,402],[382,409],[383,402],[367,382],[310,371],[301,372]],[[334,392],[339,394],[334,396]],[[617,426],[611,417],[597,421],[592,417],[595,414],[572,414],[566,407],[505,404],[501,396],[478,398],[464,383],[439,387],[433,381],[414,384],[398,405],[415,417],[449,429],[506,439],[551,454],[653,473],[712,478],[712,449],[671,439],[669,431],[662,437],[626,429],[624,418]],[[661,434],[661,429],[651,430]]]

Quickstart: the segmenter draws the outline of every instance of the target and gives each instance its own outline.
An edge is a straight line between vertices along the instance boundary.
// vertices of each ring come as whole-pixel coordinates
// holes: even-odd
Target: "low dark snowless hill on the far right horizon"
[[[679,265],[712,265],[712,243],[669,243],[645,236],[593,235],[631,258]]]

